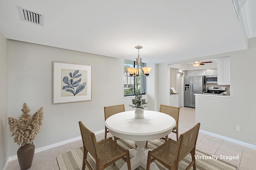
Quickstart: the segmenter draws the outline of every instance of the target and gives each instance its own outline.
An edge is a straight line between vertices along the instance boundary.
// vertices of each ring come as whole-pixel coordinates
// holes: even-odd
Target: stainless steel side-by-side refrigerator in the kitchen
[[[184,107],[196,107],[196,96],[205,92],[205,76],[184,76]]]

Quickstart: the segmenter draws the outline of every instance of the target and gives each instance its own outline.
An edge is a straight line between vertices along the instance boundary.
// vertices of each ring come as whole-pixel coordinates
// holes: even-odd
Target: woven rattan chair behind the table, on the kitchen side
[[[176,139],[178,141],[178,123],[179,123],[179,114],[180,114],[180,107],[168,106],[168,105],[160,105],[159,112],[166,113],[172,116],[176,120],[176,126],[172,129],[173,133],[176,133]],[[165,138],[165,141],[168,140],[168,135]]]

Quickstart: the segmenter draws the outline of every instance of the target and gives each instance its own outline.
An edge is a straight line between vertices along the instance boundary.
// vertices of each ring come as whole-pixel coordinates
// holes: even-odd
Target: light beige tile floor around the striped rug
[[[179,118],[179,134],[184,133],[196,124],[195,109],[181,107]],[[111,134],[108,133],[108,137]],[[176,134],[171,133],[170,138],[176,139]],[[97,140],[104,139],[104,133],[96,135]],[[56,156],[72,149],[82,147],[82,141],[78,140],[59,147],[44,150],[34,155],[32,166],[29,170],[59,170]],[[237,156],[239,159],[225,160],[238,167],[238,170],[256,169],[256,150],[236,143],[231,143],[204,133],[199,133],[196,149],[206,152],[210,155]],[[10,161],[7,170],[20,170],[18,160]]]

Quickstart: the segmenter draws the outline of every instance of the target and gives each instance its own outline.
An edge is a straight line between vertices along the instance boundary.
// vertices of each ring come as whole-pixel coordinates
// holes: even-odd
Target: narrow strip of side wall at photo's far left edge
[[[8,41],[0,31],[0,169],[8,159]]]

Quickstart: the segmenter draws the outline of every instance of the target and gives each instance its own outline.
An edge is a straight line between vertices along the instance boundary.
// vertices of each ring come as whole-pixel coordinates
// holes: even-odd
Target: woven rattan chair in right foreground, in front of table
[[[160,147],[154,150],[148,151],[147,168],[149,170],[150,164],[157,160],[169,170],[178,170],[179,162],[185,158],[189,153],[192,156],[192,162],[188,165],[186,170],[189,170],[192,166],[196,170],[196,140],[198,137],[198,131],[200,123],[197,123],[190,130],[180,135],[177,141],[169,139]],[[152,159],[151,159],[152,157]]]

